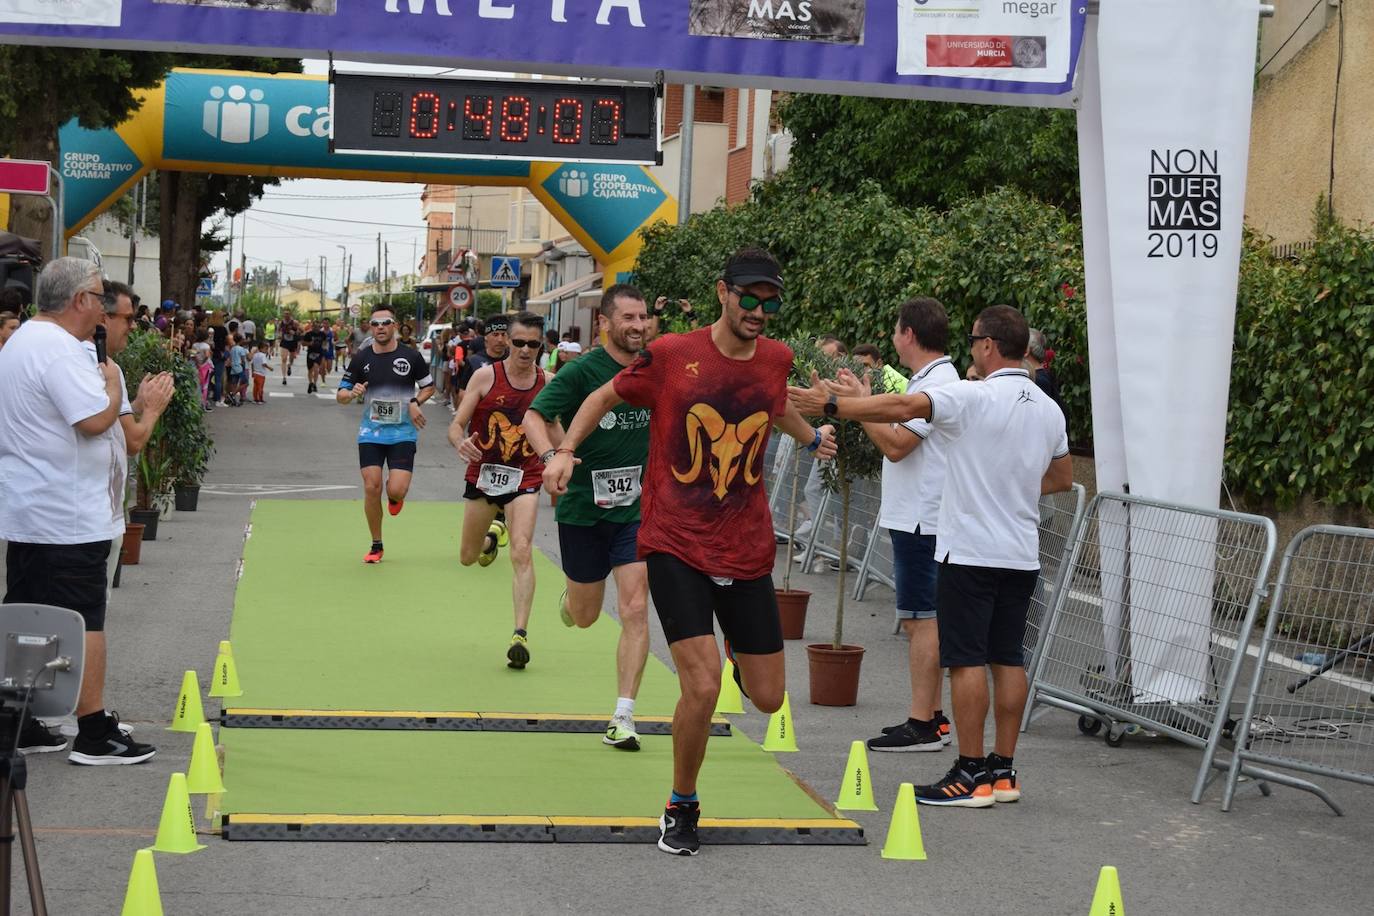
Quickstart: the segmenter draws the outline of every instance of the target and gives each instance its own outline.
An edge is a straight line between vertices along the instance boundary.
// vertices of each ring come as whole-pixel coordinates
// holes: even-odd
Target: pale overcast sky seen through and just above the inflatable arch
[[[394,67],[335,60],[341,70],[378,73],[466,73],[440,67]],[[306,73],[327,73],[324,60],[306,60]],[[508,76],[508,74],[502,74]],[[234,218],[234,266],[247,254],[249,271],[276,266],[289,279],[320,277],[320,258],[327,258],[326,291],[344,287],[344,257],[353,255],[352,279],[363,280],[376,265],[376,233],[387,246],[387,266],[396,273],[416,268],[425,247],[420,221],[422,184],[387,181],[334,181],[286,179],[247,213]],[[247,238],[246,249],[243,239]],[[341,250],[339,246],[344,246]],[[227,253],[216,255],[214,271],[223,280]]]

